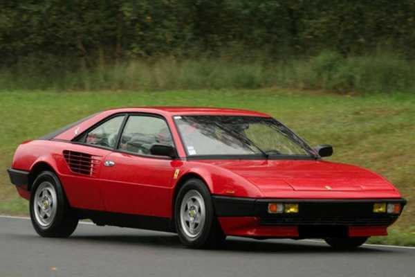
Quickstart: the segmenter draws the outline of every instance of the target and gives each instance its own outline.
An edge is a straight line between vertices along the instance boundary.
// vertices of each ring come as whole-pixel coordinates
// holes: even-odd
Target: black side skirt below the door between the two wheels
[[[168,217],[153,217],[148,215],[131,215],[127,213],[111,213],[75,208],[75,214],[80,219],[89,219],[98,226],[119,226],[134,229],[147,229],[176,233],[172,219]]]

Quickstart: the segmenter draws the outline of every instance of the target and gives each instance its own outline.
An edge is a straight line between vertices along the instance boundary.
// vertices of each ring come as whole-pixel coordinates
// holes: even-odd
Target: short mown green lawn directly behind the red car
[[[26,215],[6,168],[19,143],[95,111],[120,106],[238,107],[275,116],[311,145],[331,143],[330,159],[379,172],[409,201],[389,237],[371,242],[415,245],[415,94],[338,95],[286,89],[187,91],[0,91],[0,213]]]

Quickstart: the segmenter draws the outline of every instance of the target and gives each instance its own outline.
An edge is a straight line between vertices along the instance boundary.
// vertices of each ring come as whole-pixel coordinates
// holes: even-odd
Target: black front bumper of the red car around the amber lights
[[[261,225],[389,226],[396,214],[373,213],[374,203],[400,203],[405,199],[254,199],[213,195],[218,217],[259,217]],[[270,214],[268,203],[298,203],[299,213]]]

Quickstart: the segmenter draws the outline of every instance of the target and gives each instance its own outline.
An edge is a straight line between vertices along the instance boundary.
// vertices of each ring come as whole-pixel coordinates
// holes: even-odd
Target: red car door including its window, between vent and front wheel
[[[131,114],[117,150],[106,157],[101,172],[107,211],[170,217],[174,161],[152,156],[154,143],[174,144],[165,119]]]

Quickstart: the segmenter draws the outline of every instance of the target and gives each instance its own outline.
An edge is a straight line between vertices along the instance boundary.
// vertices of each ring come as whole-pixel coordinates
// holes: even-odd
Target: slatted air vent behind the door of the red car
[[[64,157],[71,171],[82,175],[94,176],[100,165],[100,160],[91,154],[64,150]]]

